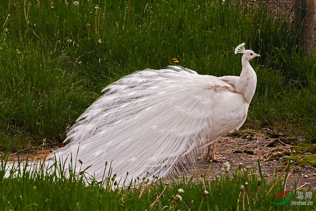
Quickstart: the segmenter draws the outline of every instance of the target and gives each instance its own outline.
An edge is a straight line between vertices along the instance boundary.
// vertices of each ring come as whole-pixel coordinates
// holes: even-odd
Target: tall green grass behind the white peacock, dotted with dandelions
[[[0,5],[0,150],[60,144],[107,84],[134,71],[179,65],[239,75],[246,47],[258,86],[243,128],[316,139],[314,57],[302,57],[288,17],[225,1],[3,1]],[[99,9],[95,9],[97,7]],[[6,31],[7,29],[7,31]]]

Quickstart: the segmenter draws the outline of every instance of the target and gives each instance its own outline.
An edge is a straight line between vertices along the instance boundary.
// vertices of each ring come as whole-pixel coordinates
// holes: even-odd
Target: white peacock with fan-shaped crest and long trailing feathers
[[[83,162],[76,171],[91,166],[86,171],[97,180],[106,161],[112,161],[117,178],[129,172],[129,181],[147,172],[149,178],[179,171],[196,160],[189,152],[210,145],[246,120],[257,82],[248,61],[259,55],[245,50],[244,43],[237,48],[235,53],[243,53],[240,77],[199,75],[169,66],[138,71],[108,85],[71,127],[66,139],[70,143],[48,159],[68,157],[69,164],[72,155]]]

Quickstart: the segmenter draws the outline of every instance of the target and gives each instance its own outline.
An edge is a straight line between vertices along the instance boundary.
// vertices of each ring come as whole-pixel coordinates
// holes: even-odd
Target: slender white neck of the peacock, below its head
[[[241,60],[241,64],[242,71],[235,84],[235,90],[238,93],[243,94],[245,101],[250,103],[257,86],[257,75],[252,69],[252,66],[249,64],[249,60],[247,60],[244,56]]]

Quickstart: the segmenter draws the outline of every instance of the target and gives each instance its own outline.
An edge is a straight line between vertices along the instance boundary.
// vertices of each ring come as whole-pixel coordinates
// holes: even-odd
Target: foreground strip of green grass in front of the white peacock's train
[[[289,168],[267,181],[259,168],[259,174],[252,167],[240,166],[232,170],[231,176],[225,172],[215,179],[209,171],[199,173],[199,181],[191,178],[176,178],[169,184],[159,180],[146,183],[146,179],[136,180],[130,186],[118,188],[117,180],[110,171],[102,182],[85,183],[85,173],[70,171],[64,176],[64,167],[49,174],[49,170],[30,171],[13,169],[11,175],[3,177],[5,159],[0,168],[0,207],[2,210],[311,210],[313,206],[293,206],[292,201],[314,202],[315,191],[298,189],[297,192],[312,192],[311,199],[297,199],[297,192],[284,206],[271,204],[282,202],[289,195],[275,197],[284,191]],[[259,164],[259,163],[258,163]],[[211,169],[211,166],[210,166]],[[13,176],[14,172],[23,174]],[[106,170],[107,172],[108,170]],[[45,175],[45,176],[44,176]],[[279,181],[279,182],[278,182]],[[139,184],[139,185],[138,185]],[[295,183],[295,187],[297,183]],[[295,187],[286,190],[295,190]],[[299,187],[299,186],[298,186]],[[179,189],[184,192],[177,194]],[[207,191],[208,193],[204,192]],[[159,199],[157,199],[159,197]],[[248,199],[249,204],[248,204]],[[177,200],[178,199],[178,200]],[[155,202],[155,203],[153,203]]]

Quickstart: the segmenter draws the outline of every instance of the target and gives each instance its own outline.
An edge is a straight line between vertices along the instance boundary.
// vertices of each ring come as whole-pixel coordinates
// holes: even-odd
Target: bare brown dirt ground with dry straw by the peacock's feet
[[[257,172],[258,178],[260,174],[258,171],[258,159],[260,159],[261,171],[267,180],[274,178],[277,170],[277,177],[282,174],[285,164],[283,159],[286,156],[279,158],[278,160],[270,160],[272,155],[281,153],[283,151],[293,152],[290,147],[291,144],[279,142],[282,140],[282,134],[278,138],[266,138],[268,135],[262,132],[250,132],[248,134],[239,135],[237,137],[225,136],[220,138],[216,144],[216,154],[221,154],[226,157],[226,161],[230,163],[231,170],[228,174],[231,175],[232,170],[238,168],[240,163],[244,166],[250,166]],[[249,154],[247,154],[248,152]],[[252,154],[253,152],[253,154]],[[295,151],[294,151],[295,152]],[[201,160],[199,164],[199,173],[208,172],[210,167],[210,178],[215,178],[222,175],[223,163],[212,162],[206,160],[207,148],[204,153],[201,153]],[[270,159],[269,159],[270,158]],[[301,172],[302,170],[302,172]],[[196,172],[196,168],[187,170],[185,176],[190,177]],[[294,190],[296,188],[295,182],[299,180],[298,188],[301,187],[307,190],[310,186],[312,190],[316,190],[316,169],[312,166],[303,164],[297,166],[295,163],[290,165],[289,177],[287,180],[287,190]],[[299,176],[301,177],[299,179]],[[208,175],[208,173],[206,174]],[[281,177],[280,181],[284,181],[285,173]],[[182,176],[181,176],[182,177]],[[180,178],[181,178],[180,177]]]

